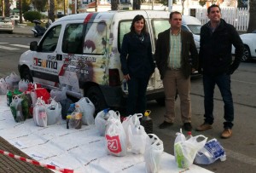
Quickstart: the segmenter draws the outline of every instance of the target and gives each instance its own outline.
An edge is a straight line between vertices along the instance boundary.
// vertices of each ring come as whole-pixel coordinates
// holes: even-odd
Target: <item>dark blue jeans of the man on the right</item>
[[[232,121],[234,120],[234,106],[233,106],[233,99],[232,93],[230,89],[230,75],[221,74],[218,76],[212,75],[203,75],[203,85],[204,85],[204,93],[205,93],[205,123],[213,124],[213,94],[215,84],[217,84],[218,89],[222,95],[224,101],[224,129],[229,128],[231,129],[233,124]]]

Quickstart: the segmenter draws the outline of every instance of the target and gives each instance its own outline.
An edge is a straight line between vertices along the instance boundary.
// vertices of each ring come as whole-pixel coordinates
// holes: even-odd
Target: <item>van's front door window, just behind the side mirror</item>
[[[55,26],[50,28],[43,38],[43,41],[39,45],[39,51],[41,52],[53,52],[55,51],[58,43],[58,39],[61,32],[61,26]]]

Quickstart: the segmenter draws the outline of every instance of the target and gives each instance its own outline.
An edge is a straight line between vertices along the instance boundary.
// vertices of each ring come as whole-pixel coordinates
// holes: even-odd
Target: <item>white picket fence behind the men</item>
[[[191,9],[189,9],[190,15]],[[249,12],[245,8],[222,8],[222,19],[227,23],[236,27],[238,32],[246,32],[249,21]],[[207,9],[195,9],[195,17],[201,20],[202,24],[206,24],[209,20],[207,17]]]

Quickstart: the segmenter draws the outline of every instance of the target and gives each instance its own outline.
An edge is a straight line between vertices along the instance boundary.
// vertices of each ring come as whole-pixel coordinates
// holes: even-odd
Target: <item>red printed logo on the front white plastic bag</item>
[[[122,152],[119,136],[108,136],[106,135],[108,141],[108,150],[112,153]]]

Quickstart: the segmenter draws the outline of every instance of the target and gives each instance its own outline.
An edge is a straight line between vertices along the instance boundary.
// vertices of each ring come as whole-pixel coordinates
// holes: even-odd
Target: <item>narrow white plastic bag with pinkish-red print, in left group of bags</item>
[[[33,108],[33,119],[36,125],[41,127],[47,126],[47,112],[44,100],[38,98],[35,107]]]

